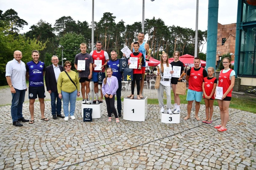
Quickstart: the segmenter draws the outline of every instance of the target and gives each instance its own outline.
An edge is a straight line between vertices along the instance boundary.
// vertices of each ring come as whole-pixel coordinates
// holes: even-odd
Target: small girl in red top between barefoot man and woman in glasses
[[[208,76],[203,79],[203,99],[205,102],[205,114],[206,118],[203,123],[212,123],[214,92],[217,86],[217,79],[214,77],[214,68],[208,67]]]

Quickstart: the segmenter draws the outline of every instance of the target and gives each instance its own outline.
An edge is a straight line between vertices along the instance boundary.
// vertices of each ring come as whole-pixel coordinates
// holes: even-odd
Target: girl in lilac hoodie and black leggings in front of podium
[[[105,101],[107,104],[108,111],[108,122],[111,122],[111,110],[115,115],[116,123],[119,123],[119,119],[117,116],[117,111],[115,108],[115,94],[118,89],[118,80],[115,76],[112,76],[112,68],[107,68],[107,77],[103,80],[102,83],[102,94],[105,96]]]

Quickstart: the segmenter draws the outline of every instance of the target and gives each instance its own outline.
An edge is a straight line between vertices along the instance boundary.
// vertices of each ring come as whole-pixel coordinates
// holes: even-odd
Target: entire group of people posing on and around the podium
[[[103,80],[100,83],[100,99],[98,101],[93,100],[93,102],[103,102],[103,96],[105,97],[105,102],[107,105],[108,121],[111,122],[111,114],[114,114],[116,122],[120,122],[118,117],[121,117],[121,81],[123,73],[119,69],[119,60],[117,59],[117,52],[115,50],[111,51],[111,60],[109,60],[108,53],[106,53],[102,48],[102,42],[96,42],[96,50],[92,51],[90,54],[86,52],[87,45],[85,43],[80,44],[81,53],[75,56],[75,69],[78,71],[78,76],[75,71],[71,70],[72,63],[66,61],[64,63],[64,68],[58,65],[59,59],[57,56],[52,56],[52,65],[45,68],[44,62],[39,61],[39,52],[37,50],[32,51],[32,61],[28,62],[26,65],[21,61],[22,53],[21,51],[14,51],[14,59],[7,63],[6,65],[6,79],[8,85],[11,88],[12,93],[12,105],[11,105],[11,116],[13,120],[13,125],[22,126],[20,122],[29,122],[33,124],[34,119],[34,102],[38,97],[40,102],[41,110],[41,120],[48,121],[49,119],[44,116],[44,75],[45,84],[47,91],[51,96],[51,113],[53,119],[57,117],[64,118],[65,121],[69,120],[69,115],[71,119],[75,119],[75,102],[76,97],[80,96],[80,84],[82,93],[82,103],[86,103],[88,99],[88,94],[90,93],[90,82],[94,83],[94,92],[99,92],[99,80]],[[131,45],[132,57],[138,58],[137,69],[133,69],[133,81],[131,83],[131,94],[127,97],[130,99],[134,98],[135,83],[137,85],[137,99],[143,98],[142,91],[144,85],[144,75],[145,75],[145,62],[146,53],[148,54],[148,59],[151,57],[148,53],[149,45],[144,42],[144,33],[140,32],[138,34],[138,41],[133,42]],[[164,112],[163,104],[163,92],[166,93],[167,98],[167,113],[168,114],[179,114],[180,109],[180,98],[176,94],[177,83],[179,78],[172,77],[171,79],[166,79],[163,77],[164,68],[178,66],[181,67],[180,74],[184,73],[184,66],[181,61],[179,61],[180,53],[175,51],[173,53],[174,61],[169,64],[168,54],[163,53],[160,57],[160,64],[157,66],[159,72],[157,75],[161,77],[160,85],[158,88],[158,99],[160,112]],[[141,61],[139,58],[142,58]],[[79,60],[85,61],[85,69],[78,69]],[[99,67],[95,64],[95,60],[100,60],[97,63],[101,63],[101,70],[96,70]],[[221,71],[219,76],[219,83],[217,84],[217,79],[214,77],[214,68],[209,67],[207,71],[200,67],[200,59],[194,58],[194,67],[190,68],[186,74],[186,81],[189,82],[189,87],[187,91],[187,116],[184,120],[190,118],[190,113],[192,109],[192,103],[195,101],[195,118],[200,120],[198,117],[198,112],[200,109],[200,102],[202,96],[205,100],[206,105],[206,119],[202,122],[211,123],[213,114],[213,102],[215,99],[215,88],[216,86],[223,87],[223,97],[218,99],[218,105],[221,113],[221,124],[215,126],[218,131],[226,131],[226,124],[228,120],[228,108],[231,100],[231,92],[234,86],[235,72],[231,69],[231,61],[229,58],[224,58],[222,60],[224,65],[224,70]],[[130,65],[130,63],[128,63]],[[141,69],[139,69],[141,66]],[[105,77],[105,67],[107,77]],[[207,73],[208,72],[208,73]],[[104,74],[101,74],[104,73]],[[171,74],[174,71],[170,71]],[[22,115],[22,105],[25,98],[26,78],[29,80],[29,111],[31,114],[31,119],[26,120]],[[171,85],[174,93],[174,107],[171,106]],[[117,96],[117,111],[114,107],[115,95]],[[61,105],[63,101],[63,111],[64,116],[61,114]],[[70,104],[70,110],[69,110]]]

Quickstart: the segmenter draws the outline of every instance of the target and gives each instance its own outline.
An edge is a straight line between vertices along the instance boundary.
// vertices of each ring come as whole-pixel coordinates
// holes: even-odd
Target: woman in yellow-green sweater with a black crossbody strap
[[[71,119],[75,119],[75,102],[76,96],[80,96],[80,85],[79,79],[75,71],[71,70],[71,62],[66,61],[64,63],[65,71],[62,71],[59,74],[57,89],[59,98],[63,101],[63,110],[65,114],[65,121],[69,120],[69,114]],[[69,75],[69,76],[68,76]],[[69,78],[70,77],[70,78]],[[72,81],[71,81],[71,80]],[[69,102],[70,102],[70,111],[69,111]]]

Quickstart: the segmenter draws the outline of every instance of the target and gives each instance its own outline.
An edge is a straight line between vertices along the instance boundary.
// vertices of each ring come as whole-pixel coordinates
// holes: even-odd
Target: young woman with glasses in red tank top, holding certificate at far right
[[[219,76],[219,82],[217,84],[218,87],[222,87],[222,97],[218,99],[218,105],[221,112],[221,124],[214,126],[214,128],[218,129],[218,131],[226,131],[226,125],[229,117],[228,108],[231,101],[231,93],[235,84],[235,71],[231,69],[231,60],[228,57],[225,57],[222,60],[222,64],[224,66],[224,70],[221,70]],[[217,87],[217,88],[218,88]],[[221,90],[218,90],[220,93]],[[215,92],[216,95],[216,92]],[[217,97],[215,97],[217,98]]]

